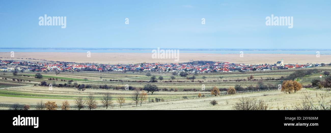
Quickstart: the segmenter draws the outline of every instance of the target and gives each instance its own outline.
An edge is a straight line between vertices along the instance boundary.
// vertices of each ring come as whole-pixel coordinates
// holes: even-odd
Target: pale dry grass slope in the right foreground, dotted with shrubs
[[[239,102],[241,98],[255,98],[263,100],[268,104],[269,110],[293,110],[293,106],[301,104],[304,99],[304,94],[310,95],[314,100],[314,105],[318,105],[316,94],[326,94],[328,97],[325,99],[324,104],[331,104],[330,92],[326,91],[313,91],[302,89],[297,93],[285,94],[280,91],[251,93],[242,95],[232,95],[224,97],[209,97],[191,100],[180,100],[171,102],[160,102],[143,104],[142,106],[124,106],[122,108],[114,108],[110,110],[232,110],[233,105]],[[210,104],[212,100],[217,101],[217,105]]]

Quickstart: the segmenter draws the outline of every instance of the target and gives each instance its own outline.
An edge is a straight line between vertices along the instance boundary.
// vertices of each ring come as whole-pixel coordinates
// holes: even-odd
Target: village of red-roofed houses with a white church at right
[[[14,62],[1,61],[0,71],[186,71],[192,73],[201,72],[234,72],[234,71],[266,71],[277,69],[298,69],[306,67],[317,67],[325,64],[305,64],[305,65],[285,65],[283,59],[277,63],[245,65],[234,64],[229,62],[212,62],[204,64],[158,64],[158,63],[141,63],[129,65],[107,65],[107,64],[70,64],[70,63],[39,63],[39,62]]]

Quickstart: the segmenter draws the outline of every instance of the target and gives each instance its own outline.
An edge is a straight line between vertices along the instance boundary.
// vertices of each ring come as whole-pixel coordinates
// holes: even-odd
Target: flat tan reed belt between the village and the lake
[[[2,58],[10,58],[10,53],[0,53]],[[62,52],[16,52],[15,58],[45,59],[48,61],[64,61],[76,63],[103,63],[103,64],[136,64],[136,63],[183,63],[189,61],[224,61],[242,64],[275,64],[284,59],[285,64],[330,63],[331,55],[295,55],[295,54],[205,54],[180,53],[179,61],[175,59],[152,59],[152,53],[62,53]],[[9,60],[9,59],[2,59]],[[36,60],[36,61],[38,61]],[[42,62],[42,61],[39,61]]]

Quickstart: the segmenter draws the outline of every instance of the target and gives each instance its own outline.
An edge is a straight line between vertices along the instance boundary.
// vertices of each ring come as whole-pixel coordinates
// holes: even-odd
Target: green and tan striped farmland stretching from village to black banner
[[[118,97],[124,97],[126,103],[131,103],[130,96],[132,90],[125,91],[118,89],[118,87],[124,87],[129,85],[135,88],[142,88],[146,84],[155,84],[161,89],[158,92],[154,92],[152,95],[148,93],[148,99],[163,99],[168,102],[150,103],[146,102],[143,107],[131,108],[125,106],[121,109],[138,109],[138,110],[230,110],[232,105],[238,101],[240,97],[257,97],[263,98],[266,102],[270,103],[274,109],[276,103],[291,104],[291,100],[300,100],[300,93],[286,95],[280,91],[268,91],[268,92],[254,92],[249,94],[238,94],[235,96],[223,96],[213,98],[210,97],[209,90],[214,86],[218,88],[228,88],[235,85],[241,85],[243,88],[249,86],[256,86],[258,82],[262,82],[268,87],[268,89],[277,89],[278,84],[281,84],[280,78],[286,77],[296,70],[317,69],[319,73],[313,73],[300,78],[299,82],[302,85],[310,84],[313,79],[320,79],[319,75],[323,71],[331,71],[330,66],[294,69],[294,70],[269,70],[269,71],[254,71],[254,72],[224,72],[224,73],[191,73],[188,77],[193,75],[196,77],[194,82],[186,77],[179,75],[175,76],[175,79],[170,78],[171,72],[151,72],[157,78],[163,76],[163,80],[150,83],[149,76],[146,76],[146,72],[61,72],[56,75],[54,72],[19,72],[17,76],[13,76],[10,72],[0,72],[0,109],[6,109],[6,104],[29,104],[33,105],[39,101],[55,101],[60,105],[63,101],[68,100],[71,105],[74,103],[74,99],[77,97],[86,98],[88,94],[93,93],[96,100],[100,104],[100,98],[105,93],[111,93],[114,104],[118,104],[116,99]],[[36,73],[43,75],[42,79],[35,78]],[[254,79],[247,80],[247,77],[253,76]],[[49,80],[54,78],[54,80]],[[13,80],[14,79],[14,80]],[[56,80],[57,79],[57,80]],[[22,81],[21,81],[22,80]],[[61,81],[62,80],[62,81]],[[55,87],[57,84],[69,84],[69,80],[73,80],[74,84],[92,85],[92,88],[87,88],[85,91],[78,91],[74,87]],[[39,86],[40,82],[46,81],[53,84],[53,89],[49,90],[48,86]],[[109,89],[101,89],[99,86],[109,87]],[[205,86],[206,91],[202,91],[202,86]],[[15,88],[12,88],[15,87]],[[117,89],[115,89],[117,88]],[[305,91],[313,91],[312,89],[305,89]],[[242,91],[245,92],[245,91]],[[319,91],[314,91],[319,92]],[[205,95],[205,98],[197,99],[198,93]],[[225,91],[221,92],[226,93]],[[261,96],[266,94],[266,96]],[[184,99],[188,97],[188,99]],[[219,101],[216,106],[209,105],[211,100]],[[284,99],[284,102],[277,102]],[[148,101],[148,100],[147,100]],[[102,108],[100,108],[102,109]],[[116,107],[114,109],[117,109]]]

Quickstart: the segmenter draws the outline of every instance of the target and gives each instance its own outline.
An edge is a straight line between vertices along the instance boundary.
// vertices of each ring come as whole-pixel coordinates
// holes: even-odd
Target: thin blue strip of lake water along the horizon
[[[0,52],[75,52],[75,53],[152,53],[152,50],[88,50],[88,49],[0,49]],[[209,54],[316,54],[317,50],[179,50],[179,53],[209,53]],[[321,55],[330,55],[331,50],[318,50]]]

